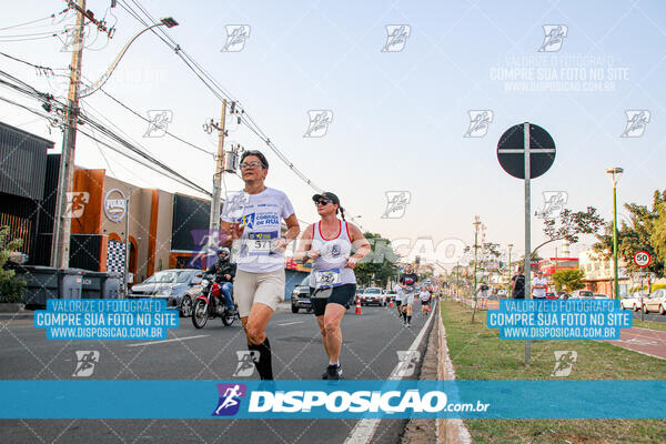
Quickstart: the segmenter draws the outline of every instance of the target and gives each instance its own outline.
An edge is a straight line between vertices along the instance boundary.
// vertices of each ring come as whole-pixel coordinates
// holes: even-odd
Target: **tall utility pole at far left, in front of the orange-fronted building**
[[[62,154],[60,154],[60,172],[58,175],[58,196],[56,199],[56,218],[53,221],[53,239],[51,243],[51,266],[69,268],[69,245],[71,236],[71,218],[67,213],[68,193],[74,180],[74,149],[77,143],[77,121],[79,117],[79,87],[81,84],[81,59],[83,57],[83,27],[85,26],[85,0],[77,1],[77,28],[74,29],[74,48],[70,65],[70,87],[64,121],[67,125],[62,137]]]

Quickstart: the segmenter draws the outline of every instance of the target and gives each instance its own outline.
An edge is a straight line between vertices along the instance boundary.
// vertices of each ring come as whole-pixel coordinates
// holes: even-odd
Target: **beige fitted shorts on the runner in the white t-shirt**
[[[239,304],[239,315],[246,317],[255,303],[273,311],[284,301],[284,269],[268,273],[250,273],[239,270],[233,280],[233,299]]]

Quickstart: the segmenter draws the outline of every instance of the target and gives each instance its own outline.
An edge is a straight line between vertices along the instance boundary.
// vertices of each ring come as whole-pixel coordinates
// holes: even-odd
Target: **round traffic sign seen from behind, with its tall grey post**
[[[497,143],[497,160],[508,174],[525,180],[525,297],[532,297],[532,179],[544,174],[555,161],[555,141],[533,123],[513,125]],[[529,341],[525,341],[525,364],[529,363]]]

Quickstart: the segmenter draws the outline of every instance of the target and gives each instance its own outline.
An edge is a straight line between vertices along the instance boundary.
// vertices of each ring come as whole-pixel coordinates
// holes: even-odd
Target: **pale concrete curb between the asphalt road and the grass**
[[[448,356],[448,346],[446,345],[446,330],[442,322],[442,304],[437,304],[437,379],[455,380],[453,363]],[[436,420],[437,443],[452,444],[472,444],[472,436],[463,420]]]

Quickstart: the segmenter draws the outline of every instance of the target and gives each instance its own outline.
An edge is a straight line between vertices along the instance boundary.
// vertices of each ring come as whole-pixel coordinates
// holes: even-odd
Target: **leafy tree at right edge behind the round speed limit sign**
[[[626,263],[626,269],[632,272],[649,271],[657,276],[664,276],[664,264],[666,251],[664,251],[664,222],[660,214],[664,213],[666,203],[666,191],[655,191],[652,209],[647,205],[626,203],[624,208],[629,212],[629,221],[622,221],[617,228],[617,255]],[[602,234],[597,234],[598,242],[594,244],[594,251],[604,259],[613,255],[613,222],[608,222]],[[652,262],[646,269],[634,264],[634,254],[645,250],[652,256]]]

